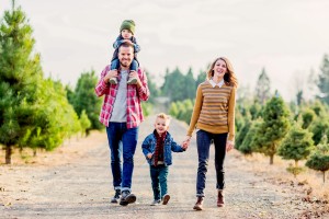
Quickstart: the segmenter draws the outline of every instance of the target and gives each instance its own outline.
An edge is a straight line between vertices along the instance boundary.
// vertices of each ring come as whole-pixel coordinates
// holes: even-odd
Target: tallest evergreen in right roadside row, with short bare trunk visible
[[[288,131],[288,108],[277,94],[266,103],[263,122],[257,130],[253,143],[258,152],[270,157],[270,164],[273,164],[277,147]]]

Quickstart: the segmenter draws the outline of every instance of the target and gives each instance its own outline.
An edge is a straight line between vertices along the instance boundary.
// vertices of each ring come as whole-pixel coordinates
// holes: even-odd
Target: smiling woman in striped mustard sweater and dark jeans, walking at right
[[[198,84],[195,105],[185,141],[190,143],[194,128],[198,168],[196,177],[196,204],[193,209],[202,210],[208,166],[209,147],[215,145],[215,168],[217,176],[217,206],[224,206],[224,160],[226,151],[234,148],[235,103],[238,85],[231,64],[227,58],[215,59],[207,71],[207,80]]]

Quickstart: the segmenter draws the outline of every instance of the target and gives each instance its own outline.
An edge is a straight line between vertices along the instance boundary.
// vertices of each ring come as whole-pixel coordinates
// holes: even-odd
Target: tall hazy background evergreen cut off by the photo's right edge
[[[317,95],[319,100],[324,103],[329,104],[329,57],[328,55],[324,56],[322,64],[320,67],[320,74],[318,80],[318,88],[320,94]]]

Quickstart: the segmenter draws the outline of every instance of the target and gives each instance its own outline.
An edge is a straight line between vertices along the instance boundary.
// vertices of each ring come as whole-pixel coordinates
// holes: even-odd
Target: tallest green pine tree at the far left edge
[[[5,146],[5,163],[11,163],[12,147],[20,145],[35,119],[42,69],[39,55],[32,54],[32,32],[24,12],[12,1],[0,26],[0,143]]]

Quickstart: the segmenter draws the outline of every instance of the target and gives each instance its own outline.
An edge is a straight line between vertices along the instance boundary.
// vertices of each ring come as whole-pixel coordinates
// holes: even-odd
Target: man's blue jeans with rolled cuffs
[[[126,123],[109,123],[106,134],[111,150],[114,189],[131,192],[138,127],[128,129]],[[123,166],[121,154],[123,154]]]

